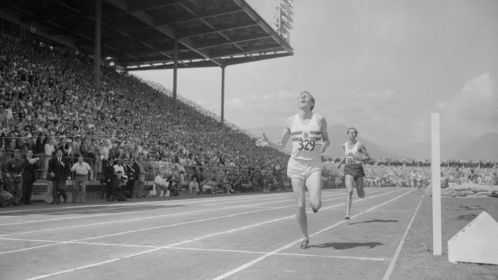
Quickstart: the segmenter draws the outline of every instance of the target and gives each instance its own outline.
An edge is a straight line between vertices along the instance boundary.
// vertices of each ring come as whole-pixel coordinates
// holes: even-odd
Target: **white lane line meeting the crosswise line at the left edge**
[[[370,192],[370,193],[377,193],[377,192],[382,192],[382,191],[375,191],[375,192]],[[331,196],[331,195],[325,195],[325,196]],[[325,197],[325,196],[323,196],[323,197]],[[341,197],[337,197],[337,198],[332,198],[332,199],[325,199],[325,200],[322,200],[322,201],[330,201],[330,200],[336,200],[336,199],[340,199],[340,198]],[[39,232],[48,232],[48,231],[57,231],[57,230],[65,230],[67,228],[85,227],[85,226],[91,226],[91,225],[103,225],[103,224],[110,224],[110,223],[116,223],[116,222],[128,222],[128,221],[134,221],[134,220],[144,220],[144,219],[152,219],[152,218],[161,218],[161,217],[168,217],[168,216],[175,216],[175,215],[182,215],[182,214],[191,214],[191,213],[204,212],[204,211],[214,211],[214,210],[229,209],[229,208],[243,208],[243,207],[256,206],[256,205],[268,204],[268,203],[273,203],[273,202],[283,202],[283,201],[285,202],[285,201],[288,201],[288,200],[278,200],[278,201],[271,201],[271,202],[263,202],[263,203],[249,204],[249,205],[245,205],[245,206],[244,205],[242,205],[242,206],[232,206],[232,207],[223,206],[221,208],[203,209],[203,210],[197,210],[197,211],[180,212],[180,213],[173,213],[173,214],[164,214],[164,215],[151,216],[151,217],[143,217],[143,218],[134,218],[134,219],[117,220],[117,221],[107,221],[107,222],[91,223],[91,224],[79,224],[79,225],[64,226],[64,227],[55,227],[55,228],[53,227],[53,228],[47,228],[45,230],[36,230],[36,231],[21,232],[21,233],[3,234],[3,235],[0,235],[0,237],[13,236],[13,235],[21,235],[21,234],[30,234],[30,233],[39,233]],[[244,202],[244,201],[242,201],[242,202]],[[278,208],[270,207],[270,208],[264,208],[264,210],[281,209],[281,208],[287,208],[287,207],[292,207],[292,206],[294,206],[294,205],[288,205],[288,206],[278,207]],[[146,210],[146,211],[148,211],[148,210]],[[139,211],[139,212],[144,212],[144,211]],[[252,212],[257,212],[257,211],[252,211]],[[252,213],[252,212],[247,212],[247,213]],[[132,213],[132,212],[125,212],[125,213]],[[140,230],[138,230],[138,231],[140,231]],[[0,252],[0,254],[1,253],[2,252]]]

